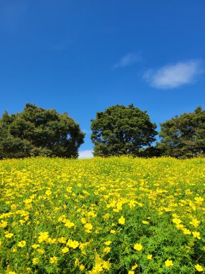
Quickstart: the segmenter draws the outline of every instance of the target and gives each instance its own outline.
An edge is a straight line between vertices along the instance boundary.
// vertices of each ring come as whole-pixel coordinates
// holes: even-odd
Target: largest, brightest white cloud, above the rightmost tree
[[[149,69],[145,72],[144,79],[153,87],[169,89],[194,83],[201,72],[200,60],[190,60]]]

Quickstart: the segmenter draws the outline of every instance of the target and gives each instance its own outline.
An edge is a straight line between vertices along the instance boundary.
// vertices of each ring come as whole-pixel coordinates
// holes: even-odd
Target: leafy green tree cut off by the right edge
[[[161,142],[156,147],[163,155],[191,158],[205,154],[205,111],[201,107],[160,125]]]

